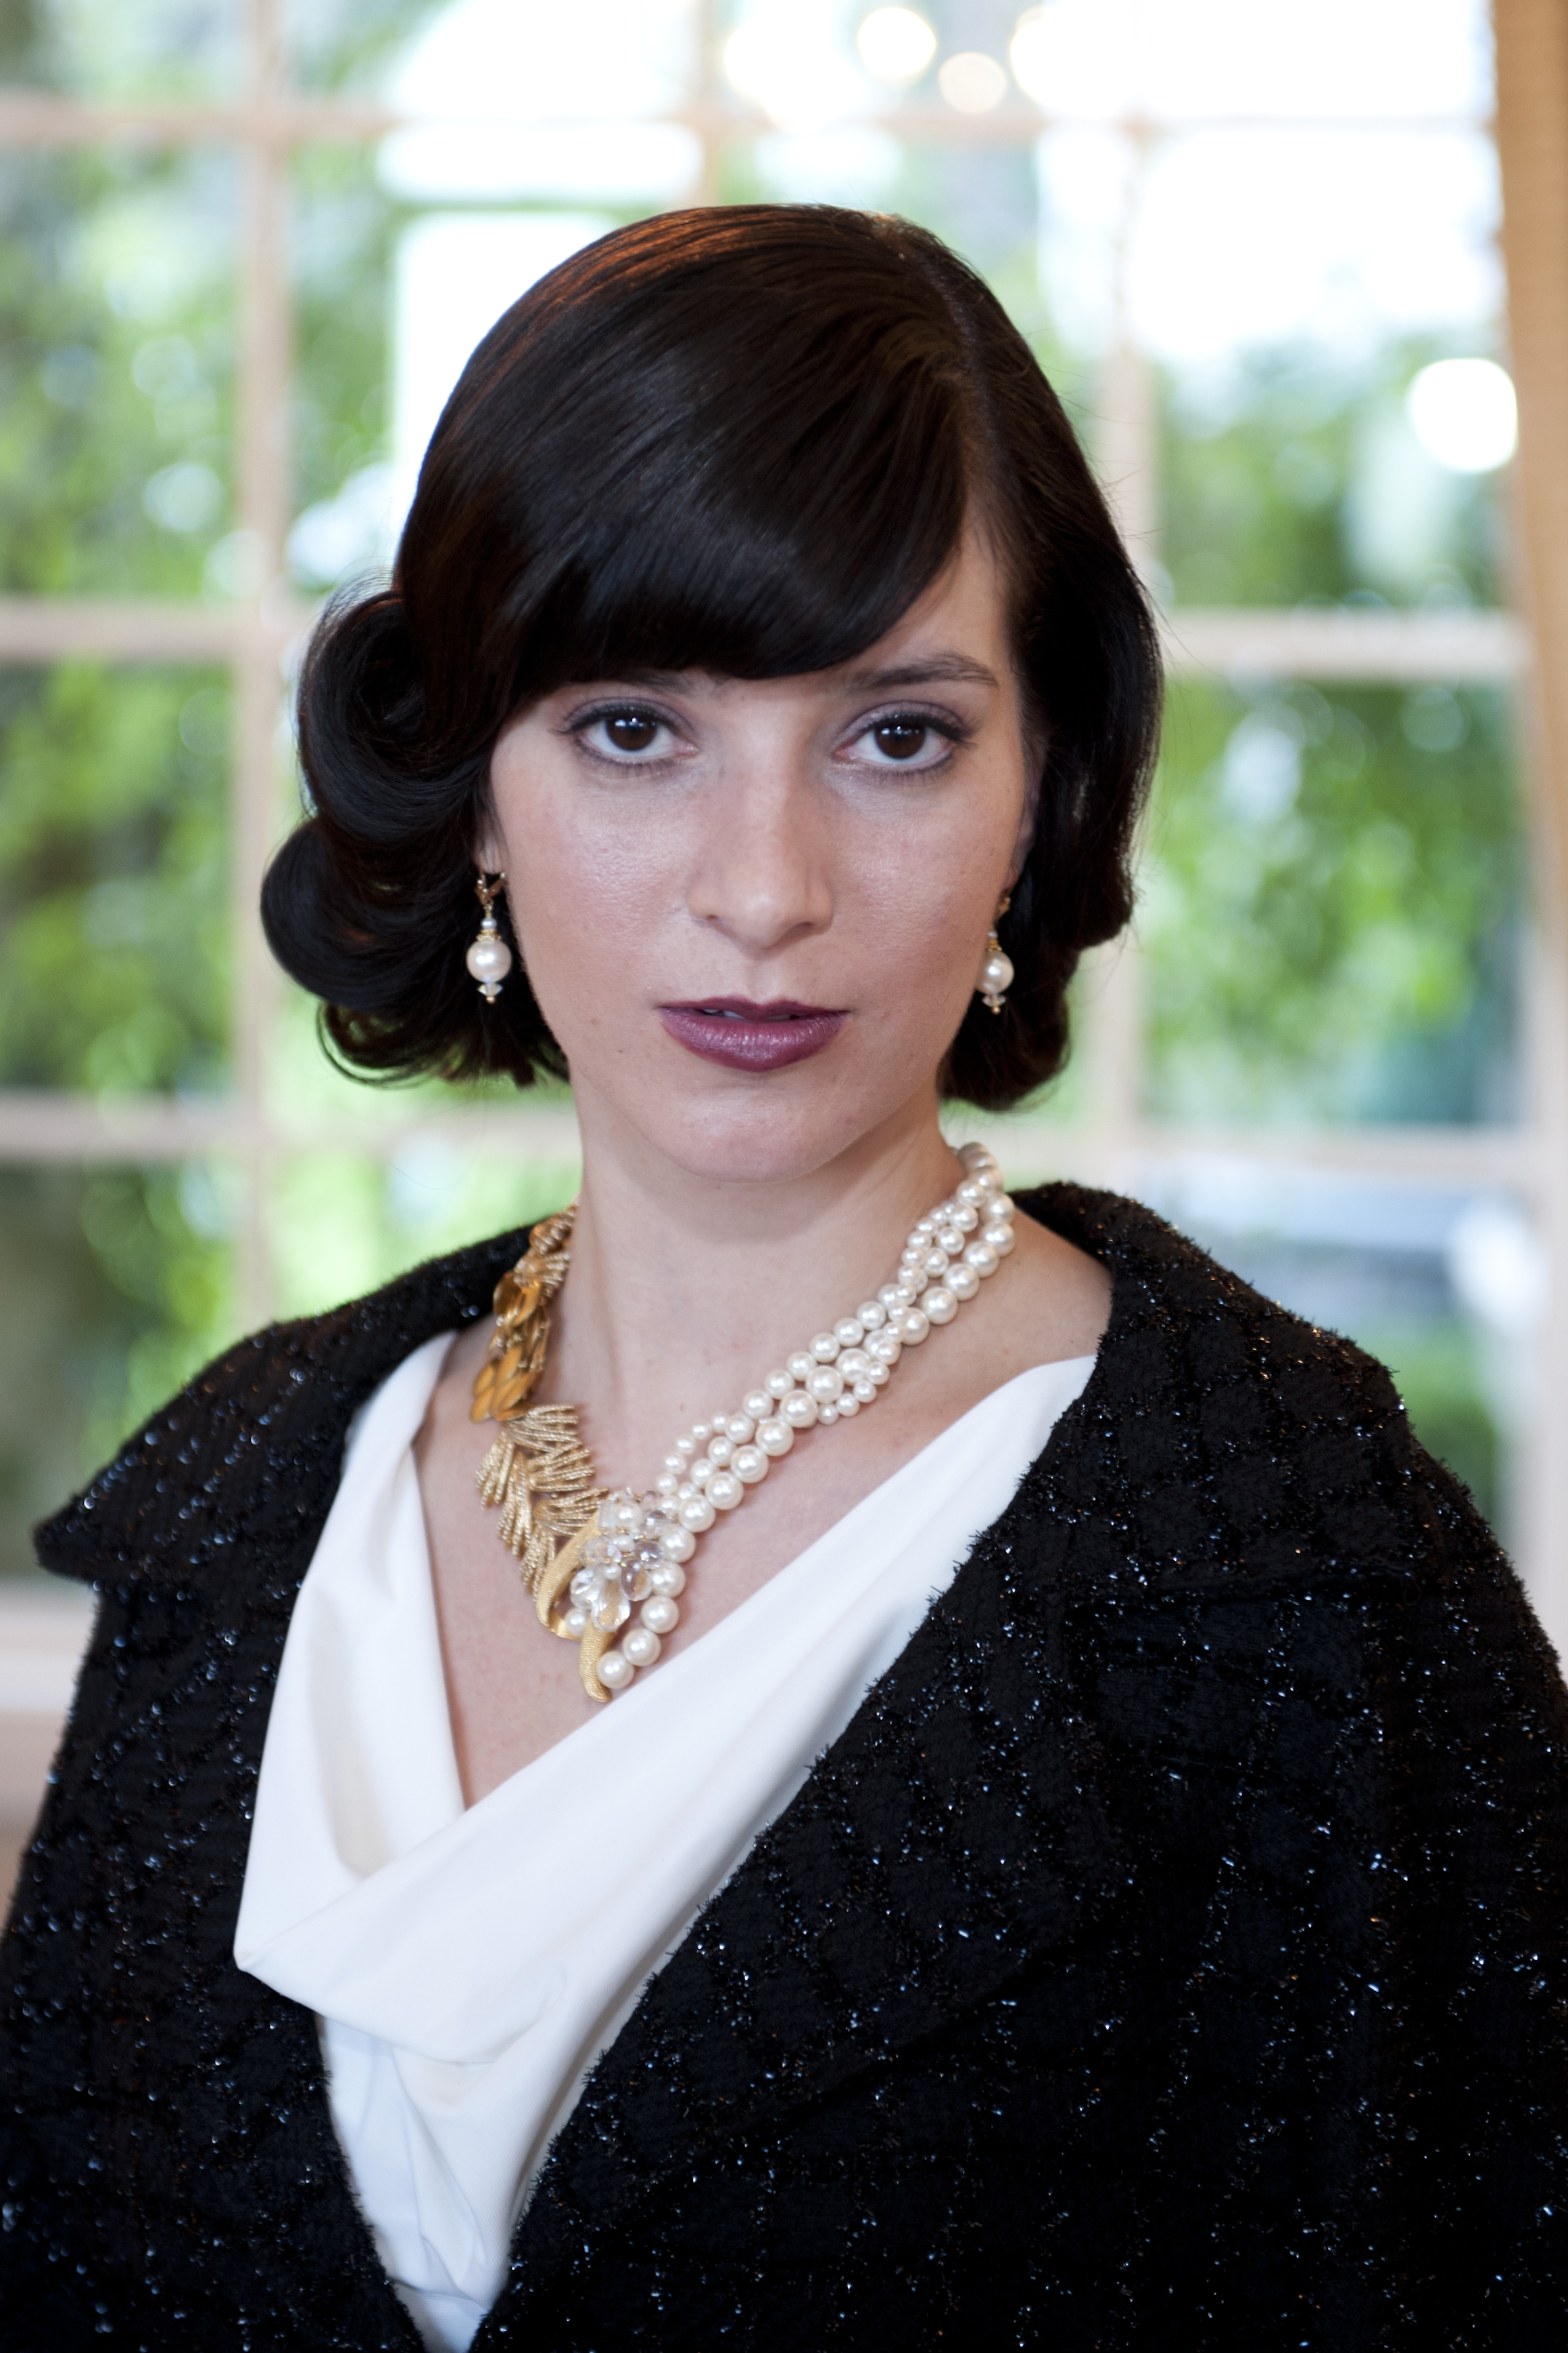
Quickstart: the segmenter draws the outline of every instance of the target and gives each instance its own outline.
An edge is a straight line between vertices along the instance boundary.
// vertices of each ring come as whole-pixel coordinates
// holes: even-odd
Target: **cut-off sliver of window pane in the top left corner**
[[[0,80],[80,99],[230,96],[242,0],[12,0]]]

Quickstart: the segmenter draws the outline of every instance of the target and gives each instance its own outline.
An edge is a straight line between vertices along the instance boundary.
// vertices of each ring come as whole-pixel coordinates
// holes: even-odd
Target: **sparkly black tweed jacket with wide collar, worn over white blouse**
[[[1568,1706],[1387,1374],[1150,1212],[1095,1374],[599,2061],[475,2353],[1561,2348]],[[99,1626],[0,1955],[7,2353],[416,2353],[230,1960],[355,1407],[520,1235],[244,1341],[42,1529]]]

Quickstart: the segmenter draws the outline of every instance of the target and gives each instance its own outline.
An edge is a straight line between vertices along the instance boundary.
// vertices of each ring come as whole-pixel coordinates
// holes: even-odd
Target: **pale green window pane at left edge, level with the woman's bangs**
[[[0,155],[0,593],[230,591],[235,165]]]

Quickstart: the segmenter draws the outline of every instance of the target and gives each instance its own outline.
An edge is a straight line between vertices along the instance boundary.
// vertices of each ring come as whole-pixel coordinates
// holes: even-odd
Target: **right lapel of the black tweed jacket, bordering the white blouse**
[[[672,2172],[1065,1955],[1131,1885],[1063,1666],[1060,1569],[1103,1381],[599,2059],[475,2353],[515,2341],[562,2268],[635,2231]]]

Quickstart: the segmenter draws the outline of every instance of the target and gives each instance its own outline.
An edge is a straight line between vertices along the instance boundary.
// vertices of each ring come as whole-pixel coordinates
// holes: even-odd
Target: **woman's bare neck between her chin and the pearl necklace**
[[[961,1176],[936,1094],[790,1179],[715,1179],[623,1139],[590,1101],[571,1275],[541,1395],[583,1407],[604,1485],[642,1489],[672,1438],[741,1398],[896,1273]]]

